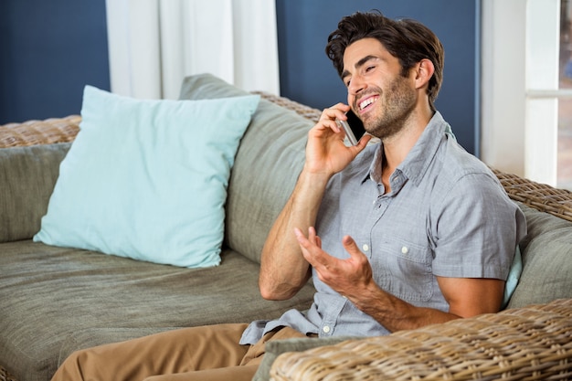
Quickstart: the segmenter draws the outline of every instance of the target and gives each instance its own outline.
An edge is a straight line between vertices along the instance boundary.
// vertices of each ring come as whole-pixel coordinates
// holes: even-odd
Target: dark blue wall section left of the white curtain
[[[0,0],[0,124],[79,113],[109,90],[105,0]]]

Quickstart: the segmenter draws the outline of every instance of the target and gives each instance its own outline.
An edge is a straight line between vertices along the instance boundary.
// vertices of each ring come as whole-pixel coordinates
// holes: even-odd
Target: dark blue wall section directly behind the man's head
[[[327,37],[343,16],[378,9],[415,18],[445,47],[439,111],[471,153],[478,152],[479,0],[276,0],[281,95],[323,109],[346,100],[346,90],[324,53]]]

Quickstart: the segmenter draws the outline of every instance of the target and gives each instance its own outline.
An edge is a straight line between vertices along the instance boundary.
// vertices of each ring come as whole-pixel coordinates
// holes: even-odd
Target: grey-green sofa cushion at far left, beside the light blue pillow
[[[0,150],[0,242],[37,233],[68,150],[69,143]]]

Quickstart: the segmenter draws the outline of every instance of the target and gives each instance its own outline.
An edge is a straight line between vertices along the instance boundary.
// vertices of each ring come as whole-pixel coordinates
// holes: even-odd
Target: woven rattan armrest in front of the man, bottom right
[[[279,356],[270,379],[572,379],[572,300]]]

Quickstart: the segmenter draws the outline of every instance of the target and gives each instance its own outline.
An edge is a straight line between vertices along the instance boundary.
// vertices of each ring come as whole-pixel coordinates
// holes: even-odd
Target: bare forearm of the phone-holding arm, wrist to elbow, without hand
[[[286,206],[270,229],[260,258],[259,286],[270,300],[291,298],[309,279],[310,265],[302,257],[294,228],[315,222],[327,178],[302,171]]]

